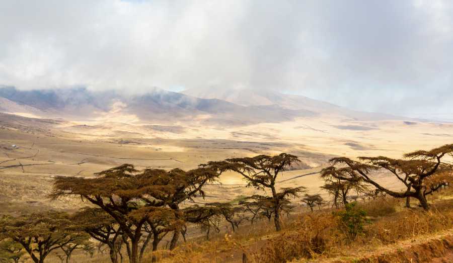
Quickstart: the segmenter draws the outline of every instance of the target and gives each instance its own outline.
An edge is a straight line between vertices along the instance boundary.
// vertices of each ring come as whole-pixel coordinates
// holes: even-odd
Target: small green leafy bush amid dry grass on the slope
[[[345,210],[334,212],[338,217],[338,225],[346,236],[353,240],[363,233],[363,226],[367,223],[366,211],[357,207],[357,202],[345,205]]]

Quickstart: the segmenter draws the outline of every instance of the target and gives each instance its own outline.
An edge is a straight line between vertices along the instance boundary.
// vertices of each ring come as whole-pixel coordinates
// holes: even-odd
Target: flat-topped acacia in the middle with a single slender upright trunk
[[[300,160],[297,156],[281,153],[275,156],[258,155],[255,157],[232,158],[224,161],[211,161],[207,166],[224,172],[227,170],[240,173],[249,187],[271,192],[275,229],[281,230],[280,211],[284,200],[297,197],[304,191],[304,187],[282,188],[277,192],[277,178],[281,172]]]

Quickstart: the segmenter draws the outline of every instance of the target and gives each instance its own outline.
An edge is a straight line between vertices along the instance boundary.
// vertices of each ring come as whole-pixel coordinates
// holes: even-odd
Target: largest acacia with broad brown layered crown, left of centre
[[[174,192],[174,185],[161,183],[166,174],[160,169],[140,172],[131,164],[123,164],[97,173],[98,178],[57,177],[50,197],[78,196],[104,210],[121,230],[129,261],[138,263],[150,239],[142,242],[149,218],[167,216],[163,211],[171,210],[165,207],[165,199],[155,198]],[[177,220],[174,223],[178,224]]]

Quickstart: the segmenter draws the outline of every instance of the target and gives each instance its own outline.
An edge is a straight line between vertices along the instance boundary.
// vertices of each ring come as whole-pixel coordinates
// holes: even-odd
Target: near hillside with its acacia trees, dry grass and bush
[[[56,177],[50,198],[79,198],[87,207],[75,214],[4,216],[0,255],[6,262],[18,262],[28,254],[36,263],[387,262],[392,259],[378,252],[369,255],[370,251],[392,245],[404,250],[399,242],[424,238],[446,252],[453,229],[451,157],[453,144],[415,151],[403,159],[333,158],[333,165],[322,171],[323,188],[333,199],[330,204],[319,195],[301,196],[303,186],[281,187],[281,172],[299,161],[286,153],[211,161],[191,170],[139,170],[123,164],[94,178]],[[403,190],[376,182],[377,170],[397,177]],[[205,186],[217,182],[225,171],[241,174],[262,195],[199,204],[206,196]],[[421,208],[414,207],[415,200]],[[434,235],[445,241],[438,243]],[[108,256],[103,255],[105,248]],[[411,262],[442,254],[430,251],[393,253]]]

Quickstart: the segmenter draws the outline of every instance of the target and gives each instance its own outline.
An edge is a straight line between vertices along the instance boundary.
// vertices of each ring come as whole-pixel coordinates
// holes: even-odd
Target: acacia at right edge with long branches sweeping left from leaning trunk
[[[428,182],[426,179],[451,171],[451,164],[442,161],[447,155],[453,156],[453,144],[428,151],[419,150],[407,153],[404,155],[405,159],[379,156],[359,157],[359,161],[355,161],[346,157],[337,157],[330,160],[333,166],[323,169],[322,176],[348,182],[362,180],[392,197],[415,198],[423,209],[428,210],[426,195],[438,190],[444,184],[429,187],[426,185]],[[370,173],[382,169],[395,176],[405,186],[405,190],[392,191],[376,182]]]

